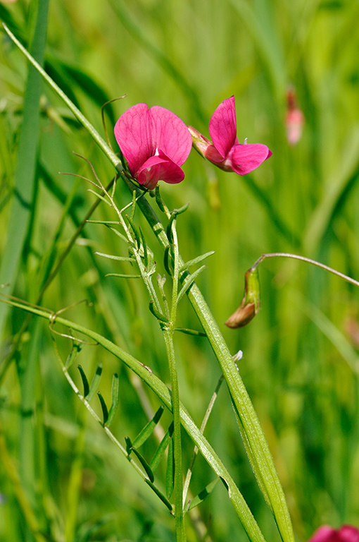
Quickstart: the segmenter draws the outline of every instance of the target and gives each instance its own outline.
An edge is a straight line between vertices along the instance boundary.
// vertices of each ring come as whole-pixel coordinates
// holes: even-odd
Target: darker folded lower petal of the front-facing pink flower
[[[138,171],[137,181],[149,190],[153,190],[156,187],[158,181],[165,181],[165,183],[175,184],[180,183],[184,179],[184,172],[172,162],[163,153],[158,156],[152,156]]]

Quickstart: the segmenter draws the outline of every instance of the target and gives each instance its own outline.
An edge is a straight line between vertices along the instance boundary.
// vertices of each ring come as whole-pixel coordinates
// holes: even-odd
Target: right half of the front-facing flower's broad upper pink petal
[[[149,110],[153,145],[162,150],[179,166],[186,162],[191,151],[192,138],[179,116],[165,107],[154,105]]]

